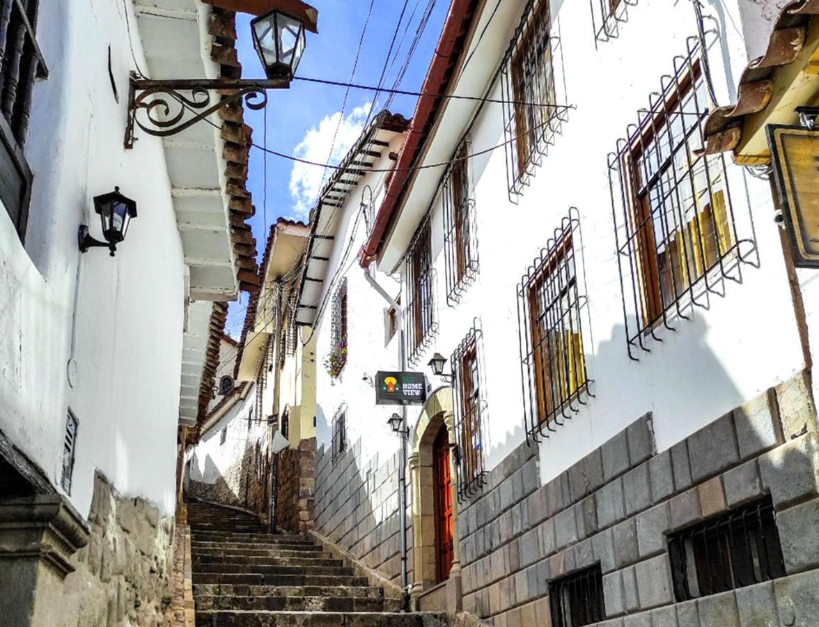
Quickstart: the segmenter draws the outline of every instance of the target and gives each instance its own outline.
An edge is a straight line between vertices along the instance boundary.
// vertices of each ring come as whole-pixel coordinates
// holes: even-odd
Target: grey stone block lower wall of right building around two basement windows
[[[549,582],[600,563],[606,627],[819,625],[819,437],[803,375],[657,454],[643,416],[545,486],[524,443],[459,513],[464,610],[550,625]],[[770,493],[787,576],[677,603],[666,534]]]

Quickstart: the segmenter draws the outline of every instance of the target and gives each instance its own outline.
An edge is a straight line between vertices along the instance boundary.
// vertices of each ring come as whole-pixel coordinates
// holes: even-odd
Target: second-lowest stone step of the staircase
[[[264,610],[264,611],[400,611],[399,599],[370,597],[237,597],[195,596],[197,611]]]

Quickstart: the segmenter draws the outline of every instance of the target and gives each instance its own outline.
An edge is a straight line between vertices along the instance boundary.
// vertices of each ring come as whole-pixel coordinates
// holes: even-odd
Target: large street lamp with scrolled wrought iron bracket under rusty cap
[[[206,2],[256,15],[263,4],[274,7],[251,21],[253,44],[267,79],[151,80],[132,73],[125,148],[133,148],[136,127],[155,137],[170,137],[234,102],[244,100],[253,111],[264,109],[268,89],[289,89],[305,51],[305,30],[318,33],[318,11],[301,0]]]

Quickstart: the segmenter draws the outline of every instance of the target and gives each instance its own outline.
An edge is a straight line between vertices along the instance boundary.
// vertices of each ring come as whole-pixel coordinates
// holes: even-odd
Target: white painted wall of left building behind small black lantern
[[[66,411],[75,413],[70,501],[84,515],[97,469],[120,493],[174,511],[183,252],[161,142],[143,135],[123,148],[133,67],[124,6],[43,4],[50,76],[35,88],[25,148],[34,171],[25,247],[0,211],[0,429],[59,486]],[[133,48],[144,66],[136,32]],[[101,237],[92,198],[115,185],[138,202],[128,238],[113,259],[104,249],[80,255],[77,228]]]

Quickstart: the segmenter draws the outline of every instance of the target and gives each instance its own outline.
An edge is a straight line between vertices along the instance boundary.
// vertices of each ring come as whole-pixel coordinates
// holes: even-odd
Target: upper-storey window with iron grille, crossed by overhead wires
[[[568,121],[563,47],[548,0],[529,0],[500,71],[509,198],[523,193],[549,147]]]

